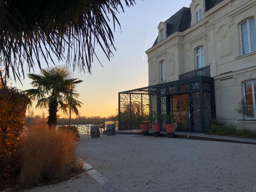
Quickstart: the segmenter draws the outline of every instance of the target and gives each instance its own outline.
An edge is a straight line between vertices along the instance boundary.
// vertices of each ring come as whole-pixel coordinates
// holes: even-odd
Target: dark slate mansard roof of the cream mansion
[[[223,0],[205,0],[206,11],[208,11],[209,9],[216,6],[217,4],[219,4],[222,1]],[[175,13],[173,16],[171,16],[169,19],[167,19],[164,22],[164,23],[167,23],[166,36],[168,37],[177,31],[183,32],[183,31],[187,30],[190,27],[190,22],[191,22],[190,8],[183,7],[177,13]],[[157,44],[157,39],[158,39],[158,36],[157,36],[153,46],[155,46]]]

